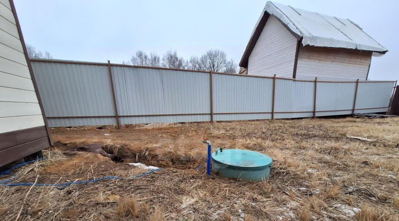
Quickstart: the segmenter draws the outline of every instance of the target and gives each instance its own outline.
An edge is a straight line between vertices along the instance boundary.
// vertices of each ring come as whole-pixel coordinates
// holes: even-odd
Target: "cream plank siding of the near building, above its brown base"
[[[43,125],[10,2],[0,0],[0,133]]]

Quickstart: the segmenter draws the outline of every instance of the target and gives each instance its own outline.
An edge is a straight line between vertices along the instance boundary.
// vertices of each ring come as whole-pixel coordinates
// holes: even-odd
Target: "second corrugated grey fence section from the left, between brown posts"
[[[136,67],[113,69],[119,115],[205,113],[122,117],[121,123],[209,121],[208,73]]]

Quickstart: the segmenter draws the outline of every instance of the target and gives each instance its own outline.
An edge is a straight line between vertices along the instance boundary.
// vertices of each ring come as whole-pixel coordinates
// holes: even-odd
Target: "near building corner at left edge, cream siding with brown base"
[[[14,3],[0,0],[0,166],[50,145]]]

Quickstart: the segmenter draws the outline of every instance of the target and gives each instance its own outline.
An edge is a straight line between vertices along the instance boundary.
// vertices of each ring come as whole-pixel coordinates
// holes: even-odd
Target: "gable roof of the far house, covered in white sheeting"
[[[249,55],[270,15],[276,16],[302,42],[302,46],[347,48],[381,54],[388,51],[370,35],[367,35],[359,25],[349,19],[326,16],[275,2],[267,2],[252,31],[239,66],[248,66]]]

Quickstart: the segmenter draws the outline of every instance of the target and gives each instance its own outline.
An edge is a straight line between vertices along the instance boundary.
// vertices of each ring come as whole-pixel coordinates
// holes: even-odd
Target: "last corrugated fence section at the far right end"
[[[389,105],[394,82],[361,82],[358,87],[356,108],[383,108]],[[356,110],[356,113],[360,110]],[[387,108],[385,110],[387,111]],[[381,111],[381,112],[383,112]],[[367,113],[367,112],[363,112]]]

